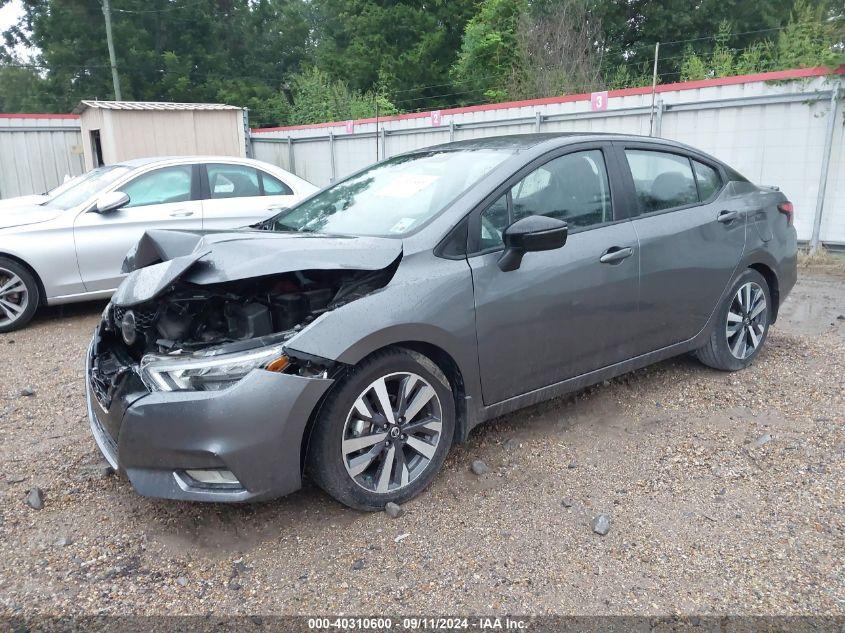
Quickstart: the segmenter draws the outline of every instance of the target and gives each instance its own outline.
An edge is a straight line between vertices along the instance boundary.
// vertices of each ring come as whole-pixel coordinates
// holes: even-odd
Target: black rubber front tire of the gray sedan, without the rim
[[[378,494],[356,484],[343,463],[341,442],[346,417],[359,395],[378,378],[413,372],[434,388],[443,414],[440,443],[428,469],[401,490]],[[427,357],[396,348],[379,352],[352,368],[332,387],[318,414],[308,450],[307,470],[312,479],[332,497],[359,510],[381,510],[388,502],[404,503],[422,492],[443,466],[455,429],[454,395],[443,372]]]

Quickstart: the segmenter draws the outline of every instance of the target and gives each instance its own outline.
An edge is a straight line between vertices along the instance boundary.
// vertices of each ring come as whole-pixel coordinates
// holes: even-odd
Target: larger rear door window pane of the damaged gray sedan
[[[692,167],[686,156],[651,150],[625,150],[640,213],[698,202]]]

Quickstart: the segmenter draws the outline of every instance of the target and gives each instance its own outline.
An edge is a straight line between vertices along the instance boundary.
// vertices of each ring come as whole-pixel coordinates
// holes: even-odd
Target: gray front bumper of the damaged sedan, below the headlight
[[[127,366],[109,387],[92,387],[99,333],[88,349],[86,394],[94,440],[142,495],[243,502],[280,497],[302,485],[300,447],[311,413],[332,385],[255,370],[216,392],[150,392]],[[185,471],[226,469],[241,485],[203,485]]]

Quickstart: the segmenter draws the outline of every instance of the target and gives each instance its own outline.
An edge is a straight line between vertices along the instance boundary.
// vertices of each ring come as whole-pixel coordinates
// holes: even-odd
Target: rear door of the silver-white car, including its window
[[[298,200],[288,183],[252,165],[209,163],[203,166],[203,178],[206,229],[254,224]]]

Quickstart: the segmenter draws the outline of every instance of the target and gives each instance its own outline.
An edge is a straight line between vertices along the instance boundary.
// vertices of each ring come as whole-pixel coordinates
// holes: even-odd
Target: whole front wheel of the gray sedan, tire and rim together
[[[380,406],[379,383],[392,422]],[[399,401],[406,390],[409,397]],[[431,483],[454,429],[454,396],[437,365],[405,348],[376,352],[329,392],[317,414],[306,472],[337,501],[357,510],[381,510],[388,502],[412,499]]]

